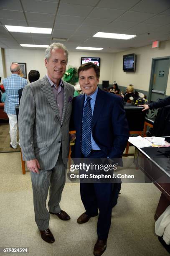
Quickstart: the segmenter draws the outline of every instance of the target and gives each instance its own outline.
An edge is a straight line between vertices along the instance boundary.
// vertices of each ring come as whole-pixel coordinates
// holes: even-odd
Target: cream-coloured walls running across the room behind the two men
[[[123,72],[123,55],[131,53],[137,54],[136,72]],[[116,80],[119,85],[126,87],[128,84],[133,84],[135,89],[148,91],[152,58],[170,56],[170,41],[161,42],[160,48],[158,49],[152,49],[152,46],[149,45],[115,54],[101,53],[98,51],[70,51],[68,66],[71,65],[79,67],[81,57],[90,56],[101,58],[100,84],[102,83],[102,80],[109,80],[109,84],[112,84],[112,82]],[[5,49],[7,76],[10,75],[10,64],[12,62],[26,62],[27,74],[31,69],[37,69],[40,72],[40,77],[43,77],[46,74],[46,67],[44,65],[44,49]],[[170,95],[170,74],[167,82],[166,95]]]

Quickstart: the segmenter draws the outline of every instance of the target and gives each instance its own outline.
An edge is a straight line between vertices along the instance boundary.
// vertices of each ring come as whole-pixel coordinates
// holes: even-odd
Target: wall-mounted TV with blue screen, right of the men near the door
[[[123,71],[124,72],[136,71],[136,54],[123,55]]]

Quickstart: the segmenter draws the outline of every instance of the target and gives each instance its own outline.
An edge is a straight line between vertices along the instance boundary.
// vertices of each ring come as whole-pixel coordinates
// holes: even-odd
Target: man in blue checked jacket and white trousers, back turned
[[[4,112],[7,113],[10,124],[10,147],[17,148],[17,115],[15,106],[18,105],[18,90],[28,84],[27,80],[20,77],[20,65],[12,63],[10,65],[11,76],[3,79],[3,85],[6,92]]]

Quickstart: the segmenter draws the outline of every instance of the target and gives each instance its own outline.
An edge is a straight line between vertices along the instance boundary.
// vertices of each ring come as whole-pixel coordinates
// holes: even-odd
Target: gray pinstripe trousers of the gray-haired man
[[[49,187],[49,211],[58,213],[61,210],[59,203],[66,181],[66,165],[63,164],[61,150],[53,169],[40,170],[39,174],[30,172],[30,176],[33,187],[35,221],[39,230],[46,230],[50,220],[50,214],[46,208]]]

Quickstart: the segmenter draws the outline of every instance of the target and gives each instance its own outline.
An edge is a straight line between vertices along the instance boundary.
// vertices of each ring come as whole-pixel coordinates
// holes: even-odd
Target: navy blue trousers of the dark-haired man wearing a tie
[[[91,152],[88,158],[107,158],[102,151]],[[99,239],[107,239],[112,218],[112,183],[81,183],[81,200],[89,216],[99,217],[97,235]]]

